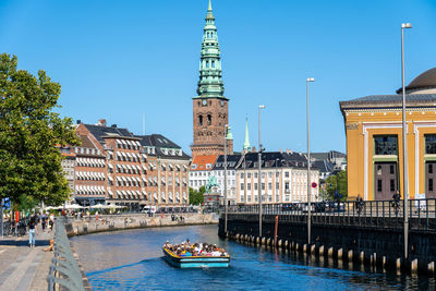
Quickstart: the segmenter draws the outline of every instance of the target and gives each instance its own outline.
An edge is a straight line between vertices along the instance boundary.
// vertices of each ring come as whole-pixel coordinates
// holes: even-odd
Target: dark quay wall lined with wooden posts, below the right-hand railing
[[[312,226],[312,243],[307,244],[307,225],[304,222],[280,221],[276,244],[275,218],[265,216],[263,235],[258,237],[258,216],[246,218],[228,216],[227,233],[225,221],[219,220],[218,233],[241,243],[269,245],[307,255],[324,256],[338,262],[355,263],[397,269],[420,271],[435,276],[436,235],[428,231],[411,230],[409,233],[409,258],[403,259],[403,230],[379,229],[359,226]]]

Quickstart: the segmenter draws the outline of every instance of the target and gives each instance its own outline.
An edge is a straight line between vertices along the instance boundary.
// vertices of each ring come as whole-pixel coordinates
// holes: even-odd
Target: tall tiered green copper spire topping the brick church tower
[[[221,57],[210,0],[206,14],[206,25],[203,31],[197,98],[225,98],[225,87],[221,81]]]

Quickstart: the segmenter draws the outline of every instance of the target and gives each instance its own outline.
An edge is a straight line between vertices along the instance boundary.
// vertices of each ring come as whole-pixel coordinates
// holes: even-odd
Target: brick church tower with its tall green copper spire
[[[223,96],[221,58],[210,0],[203,31],[197,96],[192,102],[194,143],[191,150],[193,158],[204,155],[222,155],[225,126],[229,124],[229,99]],[[233,145],[229,143],[228,154],[231,153],[233,153]]]

